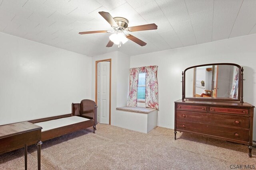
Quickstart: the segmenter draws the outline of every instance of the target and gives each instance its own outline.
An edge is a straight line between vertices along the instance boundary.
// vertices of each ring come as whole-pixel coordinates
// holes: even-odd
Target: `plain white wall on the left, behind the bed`
[[[91,57],[0,33],[0,125],[71,113],[91,70]]]

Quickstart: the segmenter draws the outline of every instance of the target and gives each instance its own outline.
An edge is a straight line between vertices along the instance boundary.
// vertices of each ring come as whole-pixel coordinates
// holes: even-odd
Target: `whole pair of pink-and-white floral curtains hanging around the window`
[[[127,100],[128,107],[137,107],[139,73],[146,72],[146,99],[145,106],[158,109],[158,81],[157,66],[130,68],[130,88]]]

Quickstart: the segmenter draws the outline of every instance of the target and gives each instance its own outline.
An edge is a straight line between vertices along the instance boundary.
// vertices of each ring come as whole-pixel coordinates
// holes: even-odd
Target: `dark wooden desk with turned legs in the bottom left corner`
[[[41,169],[42,127],[24,121],[0,126],[0,154],[24,147],[25,170],[27,169],[27,147],[36,143],[38,170]]]

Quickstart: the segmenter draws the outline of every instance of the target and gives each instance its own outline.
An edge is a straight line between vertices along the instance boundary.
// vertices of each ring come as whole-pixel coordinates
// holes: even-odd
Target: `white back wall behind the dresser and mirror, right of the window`
[[[174,129],[174,101],[182,97],[181,72],[207,63],[244,67],[244,101],[256,106],[256,35],[132,56],[130,67],[158,65],[158,126]],[[255,111],[254,111],[255,113]],[[256,140],[256,116],[254,116]]]

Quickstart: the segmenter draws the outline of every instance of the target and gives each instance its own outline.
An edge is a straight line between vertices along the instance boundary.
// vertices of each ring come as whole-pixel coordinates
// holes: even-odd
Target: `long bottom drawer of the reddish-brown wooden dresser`
[[[197,133],[232,141],[249,142],[249,130],[177,120],[177,131]]]

